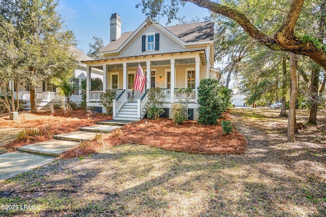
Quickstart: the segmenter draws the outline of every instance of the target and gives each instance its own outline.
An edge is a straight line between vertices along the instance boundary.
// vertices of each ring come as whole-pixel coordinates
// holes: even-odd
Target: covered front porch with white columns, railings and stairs
[[[168,54],[120,57],[85,61],[87,64],[87,105],[100,106],[100,96],[106,90],[116,90],[113,116],[118,117],[125,104],[132,104],[134,113],[129,116],[143,118],[147,105],[147,89],[161,88],[164,107],[171,108],[172,103],[184,101],[185,96],[179,89],[191,89],[187,102],[198,107],[198,86],[200,79],[209,78],[209,66],[205,51],[187,51]],[[143,68],[146,84],[143,92],[133,90],[138,64]],[[103,71],[103,89],[93,90],[90,77],[92,68]],[[130,105],[131,107],[131,105]],[[129,108],[131,112],[131,108]],[[125,112],[125,117],[128,113]]]

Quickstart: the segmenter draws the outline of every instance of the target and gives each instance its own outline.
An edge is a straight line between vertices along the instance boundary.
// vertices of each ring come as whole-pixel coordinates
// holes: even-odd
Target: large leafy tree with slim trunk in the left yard
[[[35,108],[35,88],[39,81],[53,78],[68,79],[76,67],[75,57],[70,47],[75,38],[70,30],[64,28],[64,21],[56,8],[55,0],[2,0],[0,2],[0,21],[3,32],[1,44],[10,44],[6,49],[7,66],[15,73],[19,63],[21,78],[28,81],[31,92],[31,110]],[[8,47],[8,46],[7,46]],[[16,52],[9,55],[10,52]],[[1,75],[1,74],[0,74]]]

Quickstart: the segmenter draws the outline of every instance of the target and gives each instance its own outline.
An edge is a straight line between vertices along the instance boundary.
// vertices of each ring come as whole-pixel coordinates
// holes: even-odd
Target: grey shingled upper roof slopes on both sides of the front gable
[[[165,28],[186,43],[214,40],[213,21],[167,26]],[[123,33],[118,40],[107,44],[100,52],[117,50],[133,33]]]

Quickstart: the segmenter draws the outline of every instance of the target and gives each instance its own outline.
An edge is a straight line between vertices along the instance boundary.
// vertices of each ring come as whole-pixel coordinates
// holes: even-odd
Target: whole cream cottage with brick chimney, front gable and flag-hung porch
[[[147,91],[133,90],[140,64],[147,78],[146,89],[161,88],[166,116],[171,117],[172,103],[183,100],[175,95],[175,90],[193,88],[188,111],[197,119],[200,80],[219,76],[219,70],[213,68],[214,22],[165,27],[147,19],[134,32],[121,35],[120,16],[112,14],[110,21],[110,43],[99,52],[103,59],[82,63],[87,64],[87,77],[94,68],[103,72],[103,91],[117,90],[113,118],[140,120],[144,117]],[[92,90],[90,85],[88,82],[87,105],[101,107],[99,96],[103,91]]]

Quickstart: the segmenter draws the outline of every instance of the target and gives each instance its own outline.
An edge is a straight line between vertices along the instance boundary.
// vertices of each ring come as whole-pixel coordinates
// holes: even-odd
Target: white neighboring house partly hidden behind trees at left
[[[75,76],[73,83],[75,86],[81,85],[82,79],[86,78],[86,64],[81,63],[83,60],[92,60],[91,57],[85,55],[82,51],[78,50],[75,47],[71,47],[72,52],[74,52],[77,60],[78,67],[75,69]],[[96,68],[92,69],[92,78],[103,78],[102,71],[97,70]],[[38,109],[48,108],[51,104],[63,105],[65,103],[65,97],[60,94],[60,88],[55,87],[55,85],[46,82],[38,82],[38,86],[35,90],[36,100]],[[11,86],[14,86],[13,84]],[[18,82],[18,99],[26,102],[25,109],[31,109],[30,102],[30,87],[25,80]],[[17,89],[13,89],[14,97],[16,97]],[[82,91],[81,89],[74,92],[71,97],[71,101],[79,104],[82,101]]]

